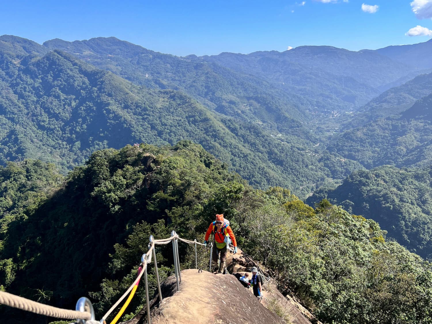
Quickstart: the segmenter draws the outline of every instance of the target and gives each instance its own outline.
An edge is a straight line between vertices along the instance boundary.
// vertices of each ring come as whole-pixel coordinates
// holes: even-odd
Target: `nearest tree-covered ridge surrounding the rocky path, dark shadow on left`
[[[0,173],[8,181],[8,174],[32,172],[25,165],[34,163],[9,164]],[[50,172],[38,176],[51,188]],[[214,214],[223,211],[239,246],[321,321],[432,321],[431,264],[386,241],[376,222],[326,200],[313,210],[280,187],[255,190],[190,142],[95,152],[51,190],[6,226],[0,282],[8,292],[65,308],[89,292],[100,316],[133,282],[149,235],[165,238],[175,229],[181,237],[202,240]],[[10,193],[23,194],[19,188]],[[195,260],[180,247],[182,268],[189,268]],[[173,272],[172,250],[163,246],[156,252],[165,278]],[[204,268],[208,254],[200,255]],[[153,267],[149,271],[154,289]],[[128,311],[136,313],[145,302],[138,289]],[[13,308],[0,308],[0,316],[14,323],[46,322]]]

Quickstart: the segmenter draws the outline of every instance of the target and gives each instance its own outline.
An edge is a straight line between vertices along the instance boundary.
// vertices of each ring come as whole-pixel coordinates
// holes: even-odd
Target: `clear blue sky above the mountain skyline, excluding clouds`
[[[363,3],[378,10],[366,13]],[[419,5],[417,15],[411,3]],[[431,13],[432,0],[15,0],[2,3],[0,35],[38,43],[115,36],[182,56],[285,51],[300,45],[357,51],[429,40]],[[425,36],[405,35],[417,25]]]

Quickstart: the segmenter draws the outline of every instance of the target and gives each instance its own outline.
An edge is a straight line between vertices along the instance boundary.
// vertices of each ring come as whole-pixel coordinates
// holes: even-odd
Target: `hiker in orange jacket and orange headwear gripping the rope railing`
[[[234,254],[237,253],[237,241],[235,241],[234,233],[232,232],[229,222],[223,218],[223,214],[216,214],[216,221],[211,222],[207,229],[204,245],[207,246],[210,234],[213,232],[215,236],[215,248],[212,253],[212,265],[217,267],[217,257],[220,253],[220,264],[218,273],[222,273],[225,269],[226,254],[228,253],[229,243],[232,241],[234,245]]]

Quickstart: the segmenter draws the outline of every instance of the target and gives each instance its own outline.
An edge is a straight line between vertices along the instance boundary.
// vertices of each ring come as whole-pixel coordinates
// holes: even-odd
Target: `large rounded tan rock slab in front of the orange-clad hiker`
[[[167,298],[152,311],[155,324],[283,323],[282,318],[265,308],[232,275],[183,270],[180,292],[175,277],[168,278],[163,288]]]

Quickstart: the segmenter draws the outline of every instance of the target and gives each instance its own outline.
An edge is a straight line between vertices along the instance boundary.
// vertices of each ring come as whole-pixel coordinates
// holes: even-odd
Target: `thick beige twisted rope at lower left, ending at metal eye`
[[[34,302],[24,297],[12,295],[9,292],[0,291],[0,304],[14,308],[22,309],[23,311],[31,311],[35,314],[46,315],[55,318],[64,319],[83,319],[89,320],[92,315],[89,312],[71,311],[69,309],[57,308],[38,302]]]

